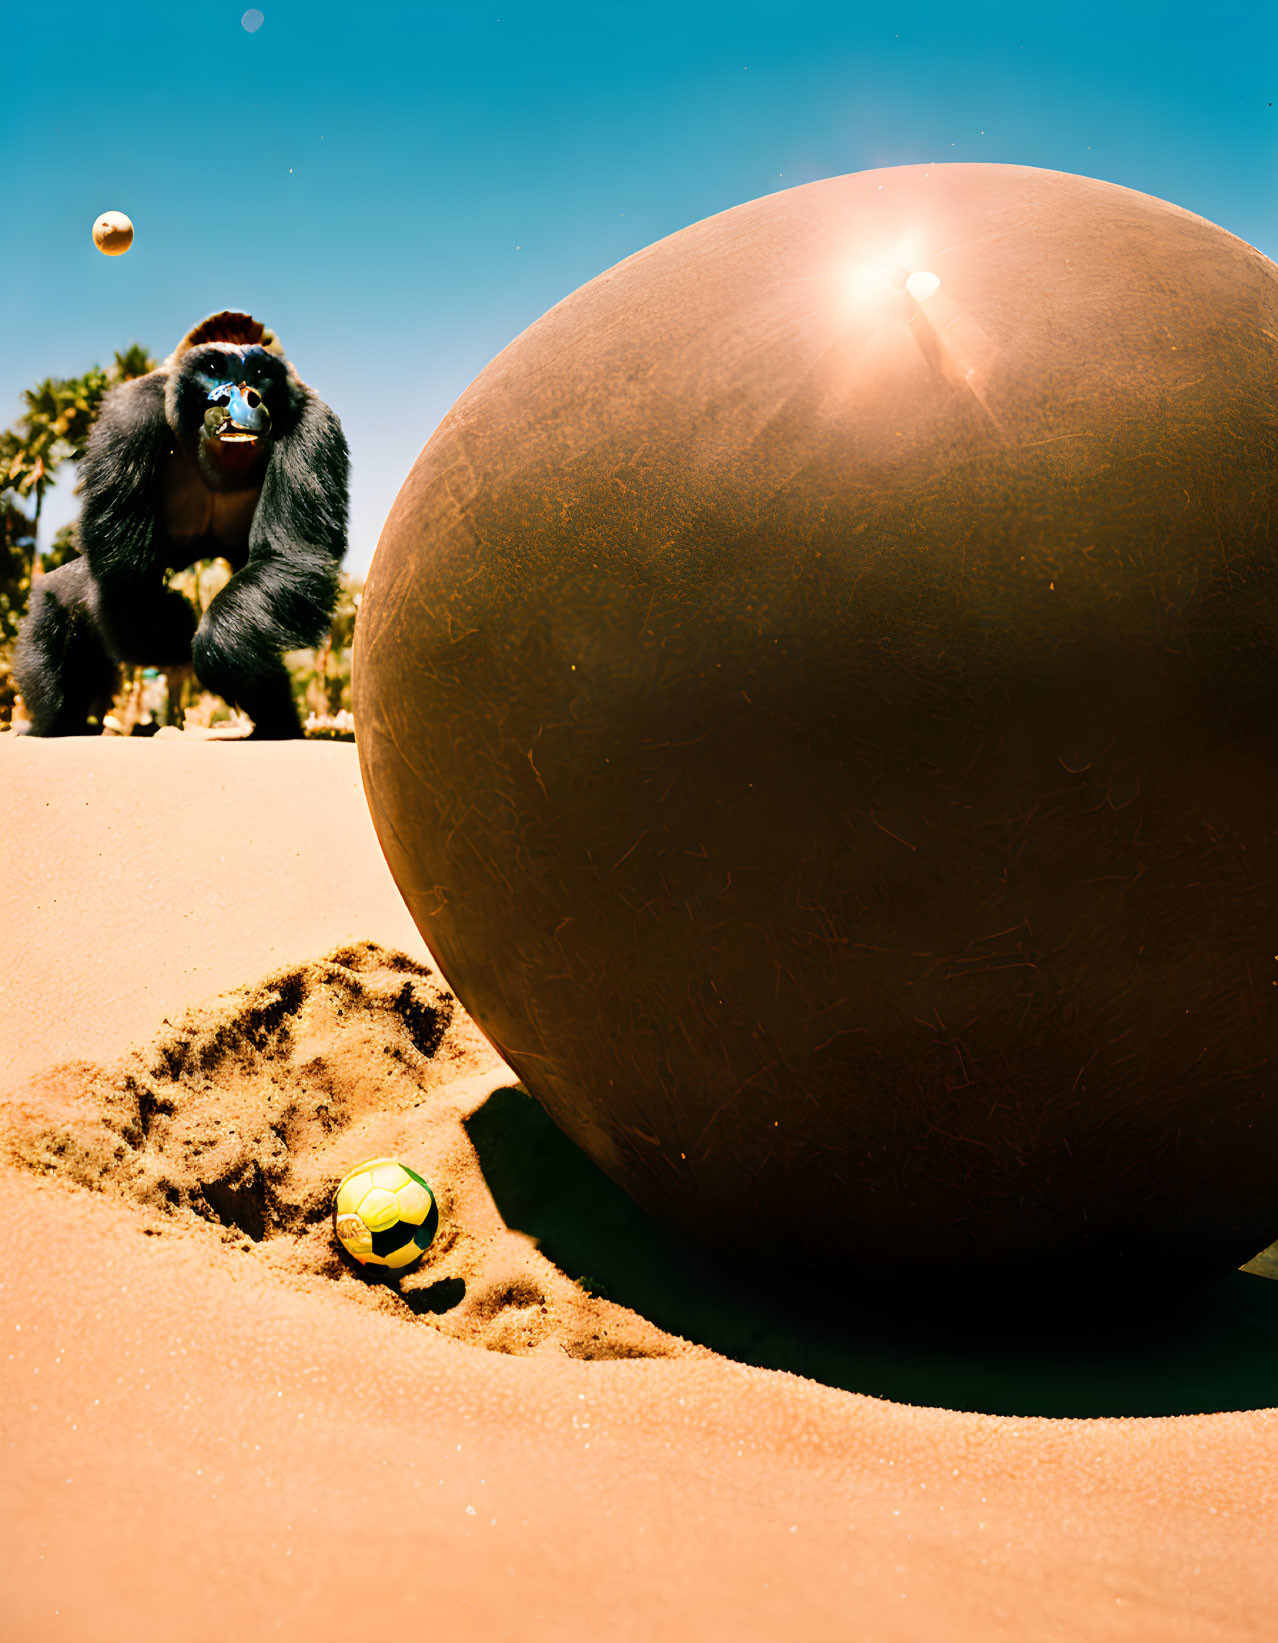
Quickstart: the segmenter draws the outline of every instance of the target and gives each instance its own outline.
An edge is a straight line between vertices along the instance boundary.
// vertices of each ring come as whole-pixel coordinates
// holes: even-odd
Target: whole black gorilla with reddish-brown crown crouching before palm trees
[[[39,577],[13,674],[36,736],[92,734],[122,664],[194,664],[266,739],[301,736],[281,652],[322,642],[347,550],[342,424],[251,315],[214,314],[102,403],[80,555]],[[227,559],[199,626],[164,577]]]

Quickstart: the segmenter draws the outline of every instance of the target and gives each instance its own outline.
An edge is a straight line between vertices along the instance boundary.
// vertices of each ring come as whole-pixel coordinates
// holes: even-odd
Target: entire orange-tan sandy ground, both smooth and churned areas
[[[353,748],[3,736],[0,784],[7,1643],[1271,1636],[1278,1411],[836,1390],[511,1224],[559,1176]],[[383,1150],[442,1209],[399,1285],[325,1219]]]

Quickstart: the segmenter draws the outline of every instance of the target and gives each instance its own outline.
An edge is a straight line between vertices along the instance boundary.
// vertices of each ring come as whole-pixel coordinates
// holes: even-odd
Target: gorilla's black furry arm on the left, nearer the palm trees
[[[113,388],[80,463],[79,542],[97,583],[95,616],[122,662],[184,662],[195,626],[191,606],[164,587],[156,542],[163,465],[172,449],[164,376],[151,371]]]

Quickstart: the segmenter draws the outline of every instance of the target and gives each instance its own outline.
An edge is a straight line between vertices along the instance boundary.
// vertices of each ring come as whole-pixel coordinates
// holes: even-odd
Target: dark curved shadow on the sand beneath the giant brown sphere
[[[986,1415],[1206,1415],[1278,1403],[1278,1283],[1234,1272],[1155,1305],[1106,1309],[958,1295],[953,1282],[856,1290],[831,1305],[659,1226],[522,1086],[467,1125],[506,1224],[568,1277],[672,1334],[759,1369],[897,1403]],[[838,1314],[838,1316],[836,1316]]]

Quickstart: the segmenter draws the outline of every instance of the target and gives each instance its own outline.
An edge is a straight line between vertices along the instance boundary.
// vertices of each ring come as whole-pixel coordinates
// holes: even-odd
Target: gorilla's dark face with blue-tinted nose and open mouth
[[[176,434],[214,490],[260,480],[287,411],[287,366],[264,348],[212,342],[181,361]]]

